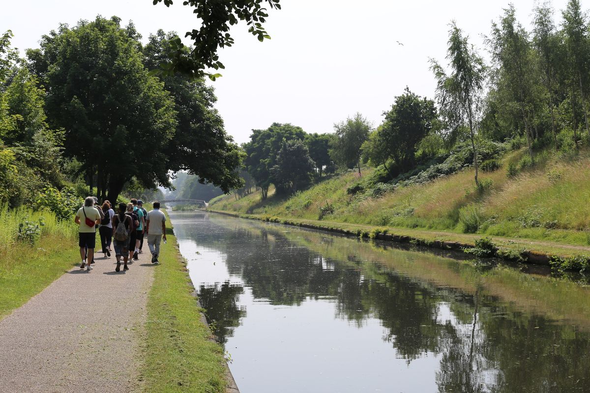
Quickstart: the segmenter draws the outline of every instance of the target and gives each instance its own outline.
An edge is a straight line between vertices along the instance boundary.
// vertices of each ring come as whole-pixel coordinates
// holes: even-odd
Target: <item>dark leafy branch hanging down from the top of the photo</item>
[[[153,0],[154,5],[160,2],[162,0]],[[172,5],[172,0],[163,2],[167,7]],[[230,27],[239,21],[245,21],[250,26],[248,32],[256,36],[258,41],[270,39],[262,25],[268,17],[264,5],[268,4],[271,9],[281,9],[279,2],[280,0],[185,1],[183,4],[194,8],[193,13],[201,19],[199,29],[192,29],[185,34],[185,37],[191,37],[194,48],[185,51],[181,39],[176,38],[172,42],[171,62],[162,62],[160,70],[167,75],[179,71],[196,78],[209,75],[209,78],[215,80],[221,75],[211,74],[205,71],[205,68],[225,68],[219,61],[217,51],[234,44],[234,39],[229,33]]]

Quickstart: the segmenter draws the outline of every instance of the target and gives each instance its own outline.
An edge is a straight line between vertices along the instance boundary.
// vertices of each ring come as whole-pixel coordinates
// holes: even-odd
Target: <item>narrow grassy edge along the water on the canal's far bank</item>
[[[268,216],[265,214],[244,214],[224,210],[207,209],[207,212],[225,214],[242,219],[274,222],[341,235],[358,236],[365,239],[378,239],[396,243],[411,243],[417,246],[432,247],[442,250],[455,250],[478,257],[498,257],[513,262],[530,263],[562,268],[564,270],[581,270],[590,265],[590,247],[560,245],[559,243],[536,242],[527,239],[490,239],[486,248],[481,248],[477,235],[463,235],[451,232],[430,232],[411,229],[378,227],[362,224],[322,222]],[[587,254],[585,254],[585,253]]]

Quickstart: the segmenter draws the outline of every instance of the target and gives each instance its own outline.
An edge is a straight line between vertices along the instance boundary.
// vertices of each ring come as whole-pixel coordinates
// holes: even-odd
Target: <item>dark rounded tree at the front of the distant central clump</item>
[[[283,142],[271,171],[277,189],[296,193],[310,183],[316,166],[303,141],[290,140]]]

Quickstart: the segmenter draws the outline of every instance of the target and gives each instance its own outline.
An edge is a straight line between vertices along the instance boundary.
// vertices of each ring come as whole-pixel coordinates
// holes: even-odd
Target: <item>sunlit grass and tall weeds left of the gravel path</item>
[[[21,232],[29,235],[19,238],[21,223]],[[50,212],[0,208],[0,319],[41,292],[79,259],[73,222],[58,222]]]

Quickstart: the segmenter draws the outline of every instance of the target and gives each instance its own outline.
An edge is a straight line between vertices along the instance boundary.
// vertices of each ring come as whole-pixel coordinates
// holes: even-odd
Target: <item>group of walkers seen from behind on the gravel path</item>
[[[84,206],[76,213],[78,245],[80,246],[80,269],[92,270],[96,229],[99,229],[100,243],[105,257],[111,256],[111,245],[117,259],[116,272],[129,270],[127,263],[139,259],[142,253],[143,238],[147,236],[148,247],[152,253],[152,263],[158,265],[160,243],[166,242],[166,216],[160,212],[160,203],[153,203],[153,210],[146,212],[142,200],[132,199],[130,203],[119,203],[117,213],[106,200],[100,206],[96,197],[87,197]]]

